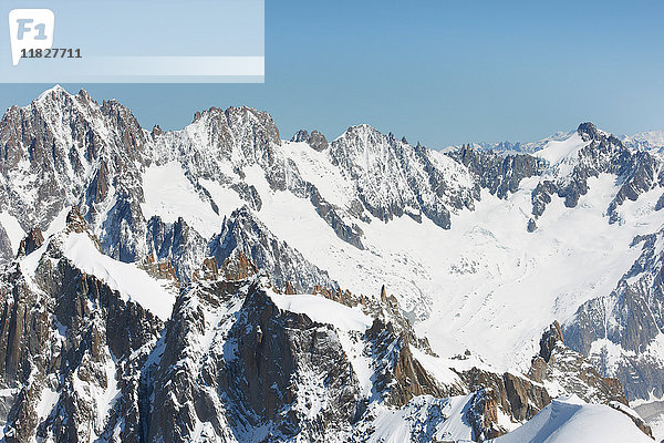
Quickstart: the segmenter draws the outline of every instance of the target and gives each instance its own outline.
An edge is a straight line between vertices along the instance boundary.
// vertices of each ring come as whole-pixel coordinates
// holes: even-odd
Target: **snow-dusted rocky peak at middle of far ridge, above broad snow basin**
[[[353,179],[362,205],[382,220],[425,215],[448,229],[450,212],[474,207],[475,190],[466,168],[367,125],[350,127],[330,144],[329,156]]]

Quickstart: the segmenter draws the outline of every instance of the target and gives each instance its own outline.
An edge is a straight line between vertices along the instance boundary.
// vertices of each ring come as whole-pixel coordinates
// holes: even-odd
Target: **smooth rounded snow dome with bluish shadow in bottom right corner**
[[[495,443],[652,443],[625,414],[577,396],[553,400],[533,419]]]

